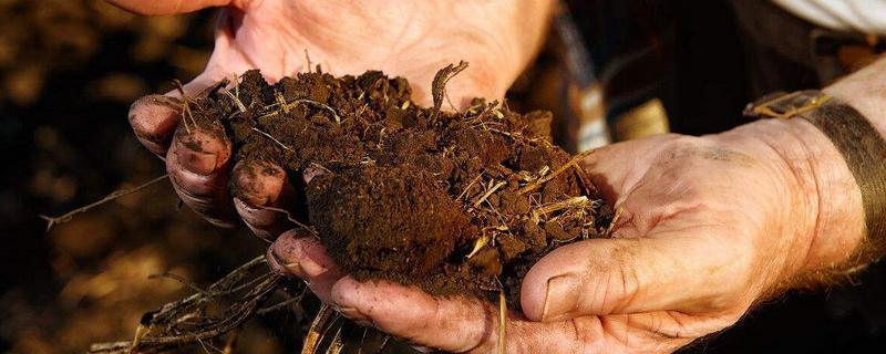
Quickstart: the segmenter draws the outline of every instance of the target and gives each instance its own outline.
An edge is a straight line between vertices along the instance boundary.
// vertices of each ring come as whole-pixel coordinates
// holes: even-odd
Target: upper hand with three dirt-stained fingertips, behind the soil
[[[307,71],[307,51],[315,64],[336,75],[382,70],[404,76],[413,100],[423,105],[431,103],[436,71],[460,60],[471,66],[447,87],[455,104],[503,97],[539,46],[550,7],[549,0],[109,1],[143,14],[226,7],[206,70],[184,85],[189,96],[250,69],[260,69],[271,81]],[[177,96],[172,92],[138,100],[130,122],[148,149],[166,157],[182,200],[213,223],[229,226],[239,214],[260,236],[278,235],[286,217],[265,207],[291,205],[287,199],[292,186],[284,170],[270,164],[239,164],[230,173],[231,144],[226,138],[205,129],[174,134],[181,118]],[[233,199],[230,178],[237,196]]]

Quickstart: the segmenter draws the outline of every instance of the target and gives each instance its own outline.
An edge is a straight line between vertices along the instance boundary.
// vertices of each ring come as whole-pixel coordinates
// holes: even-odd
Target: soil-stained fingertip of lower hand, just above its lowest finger
[[[280,235],[268,249],[267,258],[271,269],[303,279],[326,303],[332,303],[332,285],[344,277],[326,254],[320,241],[310,237],[300,238],[295,231]]]

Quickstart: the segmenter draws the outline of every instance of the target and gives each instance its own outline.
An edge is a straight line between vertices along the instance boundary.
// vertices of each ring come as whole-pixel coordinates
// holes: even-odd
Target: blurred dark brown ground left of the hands
[[[212,12],[144,18],[101,0],[0,0],[0,352],[82,353],[130,339],[143,312],[189,292],[150,274],[207,284],[264,253],[247,229],[179,209],[168,181],[50,232],[38,218],[165,173],[126,112],[203,70],[213,23]],[[284,314],[271,327],[291,332],[253,324],[238,347],[298,347],[302,319]]]

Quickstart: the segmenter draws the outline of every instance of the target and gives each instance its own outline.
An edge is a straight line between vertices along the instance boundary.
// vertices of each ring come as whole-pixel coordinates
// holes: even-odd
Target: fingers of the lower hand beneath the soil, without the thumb
[[[313,238],[293,231],[268,250],[270,267],[305,279],[320,300],[343,315],[415,345],[453,353],[493,353],[498,347],[496,305],[465,298],[434,298],[388,282],[344,277]],[[559,322],[507,314],[506,353],[670,353],[728,321],[694,322],[674,312],[583,316]],[[732,320],[734,322],[734,320]]]

